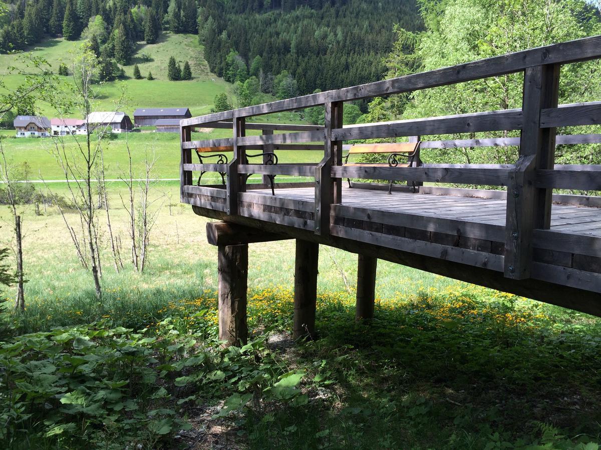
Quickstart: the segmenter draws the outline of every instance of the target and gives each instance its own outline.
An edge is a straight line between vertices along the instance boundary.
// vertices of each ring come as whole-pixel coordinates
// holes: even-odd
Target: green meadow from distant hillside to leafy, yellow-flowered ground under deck
[[[56,70],[79,44],[49,40],[34,52]],[[166,80],[171,55],[189,58],[194,80]],[[0,67],[14,58],[0,55]],[[201,115],[215,94],[231,92],[209,73],[192,35],[165,33],[139,45],[133,62],[157,79],[98,86],[94,109],[113,109],[122,86],[129,114],[188,106]],[[131,77],[133,65],[125,70]],[[294,113],[261,120],[302,122]],[[198,130],[192,139],[230,133]],[[36,190],[69,197],[56,151],[64,145],[75,158],[84,136],[16,139],[4,130],[0,138],[12,167],[27,164]],[[112,260],[106,212],[96,210],[101,301],[65,223],[78,229],[75,210],[63,217],[52,205],[19,206],[26,308],[13,311],[15,287],[3,287],[1,448],[599,449],[601,320],[407,266],[378,262],[376,317],[355,323],[357,256],[320,247],[317,335],[293,342],[294,241],[251,244],[251,337],[221,349],[217,250],[207,243],[209,219],[179,201],[179,136],[145,127],[100,145],[107,179],[129,170],[127,146],[134,178],[156,159],[147,266],[139,273],[130,261],[121,181],[107,187],[123,267]],[[282,163],[322,154],[278,151]],[[220,182],[210,173],[203,180]],[[4,247],[14,249],[7,206]]]

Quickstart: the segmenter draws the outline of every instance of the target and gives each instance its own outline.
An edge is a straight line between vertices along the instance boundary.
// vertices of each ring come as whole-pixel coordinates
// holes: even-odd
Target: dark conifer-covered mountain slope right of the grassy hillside
[[[381,79],[382,58],[394,43],[393,25],[415,31],[414,0],[200,0],[198,19],[213,72],[233,78],[232,56],[260,77],[263,91],[287,71],[296,93]],[[234,49],[236,53],[228,53]],[[294,86],[293,86],[294,87]],[[292,89],[294,90],[294,89]],[[294,92],[291,92],[294,93]]]

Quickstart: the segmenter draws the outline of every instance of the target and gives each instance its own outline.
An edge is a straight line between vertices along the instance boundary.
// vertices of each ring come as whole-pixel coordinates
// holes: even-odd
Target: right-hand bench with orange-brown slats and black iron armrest
[[[344,166],[376,166],[376,167],[418,167],[421,165],[419,160],[419,145],[421,142],[399,142],[399,143],[382,143],[382,144],[356,144],[351,145],[349,152],[343,156]],[[349,163],[350,155],[365,155],[365,154],[388,154],[386,163]],[[399,158],[406,158],[406,163],[400,163]],[[347,178],[349,188],[350,178]],[[409,184],[409,182],[407,182]],[[416,191],[415,181],[411,182],[413,192]],[[388,188],[388,193],[392,192],[392,182]]]

